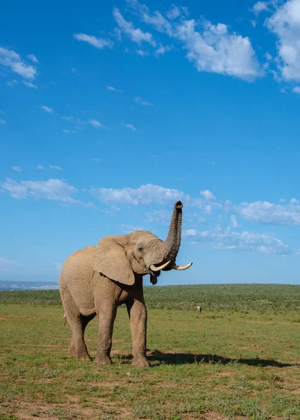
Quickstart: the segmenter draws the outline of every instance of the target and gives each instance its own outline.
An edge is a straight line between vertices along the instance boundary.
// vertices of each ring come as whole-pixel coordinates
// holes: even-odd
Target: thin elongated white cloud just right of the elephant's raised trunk
[[[194,243],[200,243],[214,249],[230,251],[252,251],[264,255],[290,255],[291,249],[275,235],[257,232],[233,232],[222,230],[219,226],[214,230],[184,230],[183,235],[191,237]]]

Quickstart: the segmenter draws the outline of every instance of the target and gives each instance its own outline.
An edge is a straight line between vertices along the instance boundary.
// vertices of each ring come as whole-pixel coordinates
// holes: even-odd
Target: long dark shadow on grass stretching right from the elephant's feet
[[[261,358],[226,358],[215,354],[190,354],[190,353],[152,353],[148,355],[149,360],[158,360],[166,365],[186,365],[191,363],[219,363],[220,365],[229,365],[229,363],[241,363],[250,366],[274,366],[274,367],[292,367],[300,364],[280,363],[276,360]]]

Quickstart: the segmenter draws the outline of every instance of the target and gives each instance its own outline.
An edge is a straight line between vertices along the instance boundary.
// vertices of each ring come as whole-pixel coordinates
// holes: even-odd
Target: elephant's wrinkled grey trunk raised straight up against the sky
[[[179,251],[180,241],[182,239],[182,202],[178,201],[173,210],[169,233],[165,239],[165,260],[176,260]]]

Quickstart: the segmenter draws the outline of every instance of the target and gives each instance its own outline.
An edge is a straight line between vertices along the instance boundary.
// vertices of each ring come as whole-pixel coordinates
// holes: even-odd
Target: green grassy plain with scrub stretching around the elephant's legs
[[[0,419],[300,419],[300,286],[145,288],[151,367],[67,356],[57,290],[0,292]],[[203,310],[199,314],[196,305]],[[95,355],[97,320],[86,330]]]

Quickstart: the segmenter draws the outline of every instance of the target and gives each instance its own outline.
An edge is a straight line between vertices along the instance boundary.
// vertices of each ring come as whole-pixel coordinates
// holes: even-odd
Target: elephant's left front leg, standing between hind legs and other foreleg
[[[111,341],[116,318],[116,304],[111,307],[103,307],[97,311],[99,320],[99,335],[95,363],[100,365],[111,364]]]

